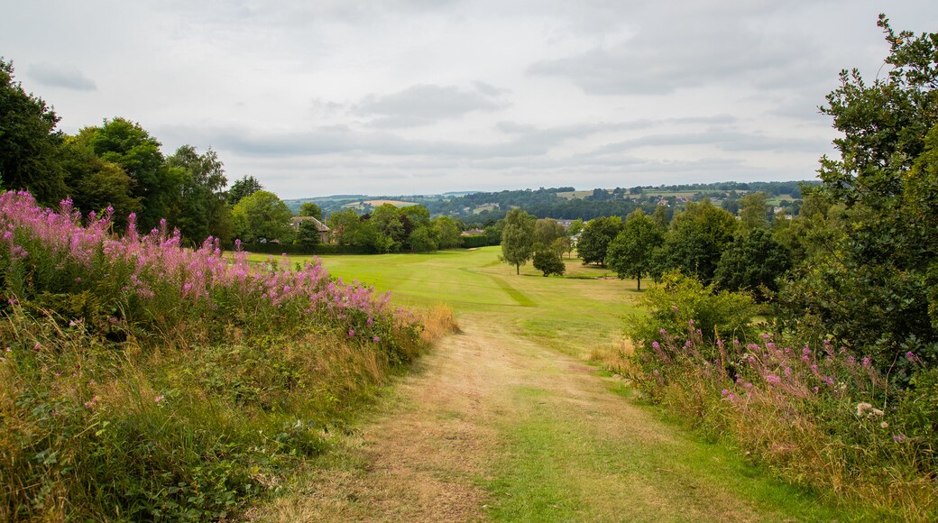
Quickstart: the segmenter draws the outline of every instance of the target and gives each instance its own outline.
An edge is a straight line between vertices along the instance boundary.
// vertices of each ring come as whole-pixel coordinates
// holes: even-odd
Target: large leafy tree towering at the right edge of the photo
[[[888,73],[868,83],[855,69],[842,71],[821,108],[841,133],[840,157],[822,158],[817,190],[843,209],[839,239],[801,267],[782,298],[819,336],[870,352],[885,367],[909,350],[938,360],[938,33],[897,34],[884,16],[879,26]]]

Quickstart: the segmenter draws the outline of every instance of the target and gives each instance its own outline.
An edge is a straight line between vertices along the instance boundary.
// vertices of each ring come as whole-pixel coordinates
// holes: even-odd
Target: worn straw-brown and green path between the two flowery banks
[[[774,501],[741,494],[764,480],[613,394],[612,379],[495,318],[461,324],[380,417],[261,518],[793,519],[779,509],[787,492]]]

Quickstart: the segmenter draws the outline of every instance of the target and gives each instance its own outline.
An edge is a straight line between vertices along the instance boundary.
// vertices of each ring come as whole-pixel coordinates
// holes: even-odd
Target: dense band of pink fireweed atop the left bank
[[[287,270],[284,257],[252,267],[239,242],[233,256],[223,256],[212,237],[185,248],[165,220],[141,234],[134,215],[118,236],[112,214],[109,208],[103,216],[90,213],[83,220],[68,200],[56,212],[39,207],[26,192],[0,195],[4,298],[91,292],[103,302],[107,317],[83,318],[89,324],[130,324],[159,332],[180,321],[210,323],[223,317],[261,333],[283,324],[341,323],[344,330],[374,340],[393,325],[416,321],[389,306],[389,292],[331,279],[318,261]]]

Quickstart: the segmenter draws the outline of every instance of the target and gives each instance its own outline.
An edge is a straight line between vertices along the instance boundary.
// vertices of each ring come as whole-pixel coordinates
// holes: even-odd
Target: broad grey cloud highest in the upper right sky
[[[737,88],[751,82],[797,83],[799,69],[811,59],[802,39],[765,34],[739,16],[719,11],[644,16],[650,20],[633,21],[640,29],[626,41],[541,60],[527,72],[567,79],[593,95],[668,95],[722,82]]]

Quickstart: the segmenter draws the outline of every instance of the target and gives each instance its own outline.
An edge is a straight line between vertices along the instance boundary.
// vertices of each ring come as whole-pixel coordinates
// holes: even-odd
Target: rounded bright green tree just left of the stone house
[[[259,190],[234,205],[234,236],[247,243],[286,242],[293,236],[291,217],[293,213],[276,194]]]

